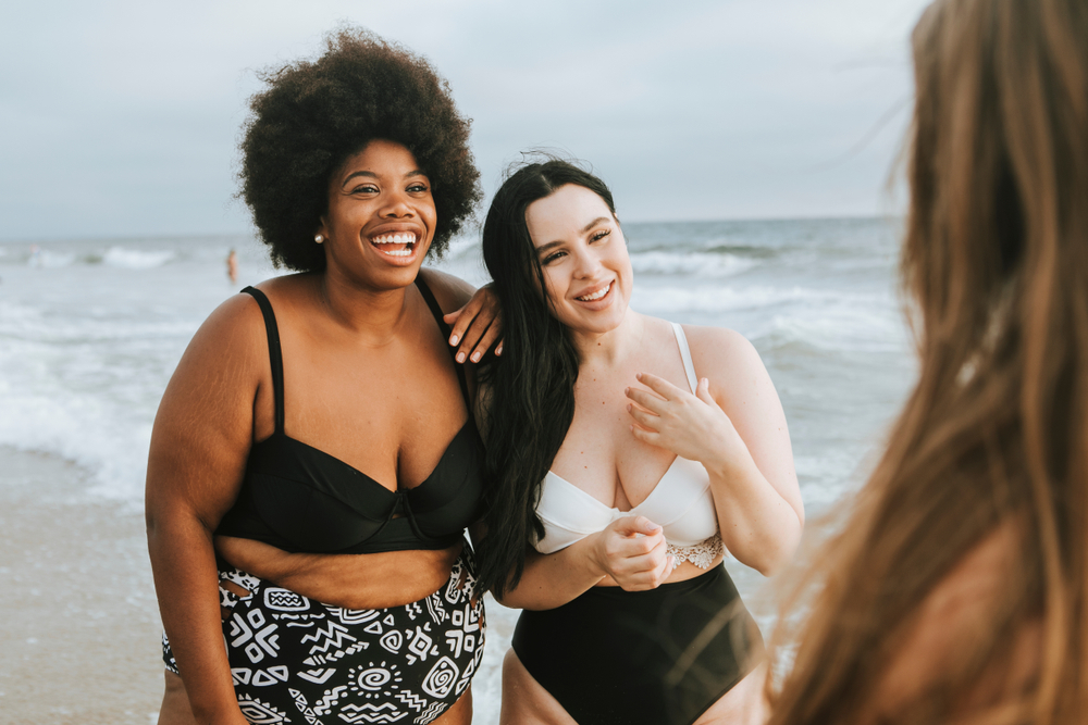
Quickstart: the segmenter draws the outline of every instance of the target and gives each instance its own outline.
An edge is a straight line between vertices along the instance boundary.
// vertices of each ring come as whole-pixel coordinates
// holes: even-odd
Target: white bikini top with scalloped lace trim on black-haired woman
[[[695,366],[691,362],[688,338],[677,323],[672,323],[672,330],[688,373],[688,385],[694,392],[698,378],[695,377]],[[668,552],[673,555],[676,566],[690,561],[707,568],[725,551],[718,535],[710,477],[702,463],[679,455],[646,500],[630,511],[605,505],[578,486],[548,471],[541,485],[536,513],[544,522],[544,538],[534,546],[544,554],[566,549],[590,534],[604,529],[617,518],[640,515],[665,529]]]

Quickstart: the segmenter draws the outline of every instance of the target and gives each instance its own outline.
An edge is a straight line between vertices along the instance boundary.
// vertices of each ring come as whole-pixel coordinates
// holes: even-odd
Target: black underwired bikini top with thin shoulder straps
[[[440,329],[449,328],[420,279]],[[275,433],[255,443],[238,499],[215,534],[256,539],[289,552],[379,553],[445,549],[479,516],[483,445],[471,417],[465,371],[455,363],[469,421],[419,486],[391,491],[344,461],[284,433],[283,358],[272,305],[247,287],[264,315],[275,392]]]

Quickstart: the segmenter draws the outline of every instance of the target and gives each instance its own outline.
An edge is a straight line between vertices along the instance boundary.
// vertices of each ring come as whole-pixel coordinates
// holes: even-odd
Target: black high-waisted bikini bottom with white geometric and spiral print
[[[234,691],[250,723],[430,723],[468,688],[483,658],[471,554],[425,599],[380,610],[322,604],[236,568],[220,578]],[[177,673],[165,634],[162,659]]]

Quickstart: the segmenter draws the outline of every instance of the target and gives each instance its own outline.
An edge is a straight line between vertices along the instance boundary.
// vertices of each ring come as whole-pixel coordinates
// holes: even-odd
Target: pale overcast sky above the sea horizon
[[[925,0],[5,2],[0,239],[231,234],[255,71],[341,22],[429,58],[491,193],[586,160],[625,221],[857,216],[908,123]]]

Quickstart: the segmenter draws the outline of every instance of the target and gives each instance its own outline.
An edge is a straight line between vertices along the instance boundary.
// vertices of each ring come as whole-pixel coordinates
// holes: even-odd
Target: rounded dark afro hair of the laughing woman
[[[325,43],[316,61],[260,74],[267,89],[249,102],[239,196],[272,262],[325,268],[313,233],[329,208],[329,180],[374,139],[405,146],[430,178],[437,213],[431,251],[441,257],[482,196],[468,147],[471,121],[454,107],[449,84],[409,50],[354,28]]]

